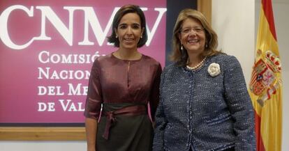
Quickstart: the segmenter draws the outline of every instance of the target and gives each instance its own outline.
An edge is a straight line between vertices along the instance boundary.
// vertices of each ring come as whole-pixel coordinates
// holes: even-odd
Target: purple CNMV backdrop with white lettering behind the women
[[[105,37],[128,3],[147,18],[140,51],[165,65],[165,0],[1,1],[0,123],[83,122],[91,65],[117,49]]]

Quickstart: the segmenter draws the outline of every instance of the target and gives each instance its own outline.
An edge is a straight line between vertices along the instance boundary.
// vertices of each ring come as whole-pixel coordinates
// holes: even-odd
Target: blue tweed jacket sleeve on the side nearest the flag
[[[255,121],[252,102],[246,88],[242,67],[235,56],[228,56],[224,65],[225,100],[236,134],[235,150],[255,150]]]

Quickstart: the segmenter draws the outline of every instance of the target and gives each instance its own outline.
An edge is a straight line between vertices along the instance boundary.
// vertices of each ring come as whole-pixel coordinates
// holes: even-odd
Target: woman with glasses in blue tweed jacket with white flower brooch
[[[185,9],[161,76],[154,151],[255,150],[254,112],[237,58],[216,51],[202,13]]]

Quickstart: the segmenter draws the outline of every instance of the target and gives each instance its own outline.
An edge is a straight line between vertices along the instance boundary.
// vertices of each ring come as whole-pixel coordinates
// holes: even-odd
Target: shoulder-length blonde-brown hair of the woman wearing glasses
[[[175,23],[172,37],[172,55],[170,56],[170,59],[176,62],[179,66],[186,65],[186,61],[188,60],[188,53],[186,52],[186,49],[180,49],[181,41],[179,40],[181,25],[183,24],[184,20],[188,18],[197,19],[202,24],[202,27],[205,29],[206,47],[205,51],[203,51],[200,56],[213,56],[215,54],[222,53],[221,51],[216,50],[216,48],[218,47],[218,36],[216,35],[216,32],[212,29],[212,26],[207,22],[205,16],[202,15],[202,13],[200,13],[198,10],[186,8],[184,10],[181,10],[179,16],[177,17],[177,22]]]

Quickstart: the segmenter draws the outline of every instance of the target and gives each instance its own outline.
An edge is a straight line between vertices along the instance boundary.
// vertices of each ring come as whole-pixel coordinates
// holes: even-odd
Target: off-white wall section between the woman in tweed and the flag
[[[219,49],[238,58],[247,83],[255,49],[254,6],[252,0],[212,0],[212,26],[218,35]]]

